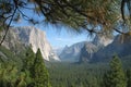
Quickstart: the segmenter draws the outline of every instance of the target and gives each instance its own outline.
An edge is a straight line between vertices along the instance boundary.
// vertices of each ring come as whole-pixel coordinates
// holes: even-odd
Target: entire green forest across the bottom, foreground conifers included
[[[26,48],[23,57],[0,50],[0,87],[131,87],[130,55],[108,63],[44,63],[39,49],[35,54]]]

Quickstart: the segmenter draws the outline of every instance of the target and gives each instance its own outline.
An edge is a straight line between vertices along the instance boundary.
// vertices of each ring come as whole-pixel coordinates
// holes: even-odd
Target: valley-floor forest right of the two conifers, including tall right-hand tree
[[[115,55],[108,63],[51,63],[50,82],[52,87],[130,87],[131,60],[121,60]]]

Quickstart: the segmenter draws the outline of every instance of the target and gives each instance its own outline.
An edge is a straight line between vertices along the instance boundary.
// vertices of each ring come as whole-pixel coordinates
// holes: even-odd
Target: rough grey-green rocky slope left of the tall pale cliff
[[[4,35],[4,32],[0,33],[1,36]],[[14,33],[13,28],[10,28],[5,39],[2,42],[2,46],[7,49],[10,49],[14,53],[20,53],[25,49],[25,45],[19,38],[19,35]]]

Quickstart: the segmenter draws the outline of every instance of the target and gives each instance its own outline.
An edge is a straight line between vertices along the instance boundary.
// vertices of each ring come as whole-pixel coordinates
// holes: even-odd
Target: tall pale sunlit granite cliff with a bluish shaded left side
[[[11,32],[11,34],[13,34],[14,40],[16,40],[16,41],[20,40],[21,44],[24,46],[32,46],[32,49],[34,52],[36,52],[37,49],[39,48],[41,51],[43,58],[45,60],[59,61],[59,58],[53,53],[51,46],[47,41],[46,34],[44,30],[40,30],[33,26],[26,26],[26,27],[12,28],[12,29],[10,29],[10,32]]]

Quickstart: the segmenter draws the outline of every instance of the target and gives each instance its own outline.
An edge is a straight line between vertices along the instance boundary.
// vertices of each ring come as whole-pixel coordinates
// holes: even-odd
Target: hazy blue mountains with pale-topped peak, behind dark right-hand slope
[[[69,62],[90,62],[95,52],[111,44],[112,40],[112,38],[97,35],[93,41],[82,41],[66,47],[59,55],[60,60]]]

